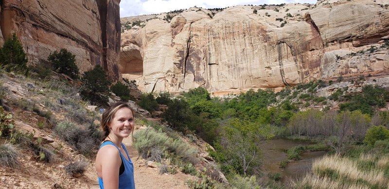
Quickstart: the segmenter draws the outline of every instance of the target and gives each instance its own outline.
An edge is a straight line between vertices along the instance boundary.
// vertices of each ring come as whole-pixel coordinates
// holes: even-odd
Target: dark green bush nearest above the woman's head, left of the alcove
[[[84,100],[95,105],[108,105],[109,86],[112,82],[102,67],[96,66],[94,69],[86,71],[81,81],[84,87],[80,89],[80,94]]]

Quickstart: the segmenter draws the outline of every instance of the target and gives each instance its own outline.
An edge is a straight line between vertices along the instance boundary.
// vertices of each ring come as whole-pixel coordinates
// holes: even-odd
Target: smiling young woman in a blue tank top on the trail
[[[122,143],[134,131],[129,104],[112,104],[103,113],[101,126],[105,138],[96,156],[100,189],[135,189],[134,165]]]

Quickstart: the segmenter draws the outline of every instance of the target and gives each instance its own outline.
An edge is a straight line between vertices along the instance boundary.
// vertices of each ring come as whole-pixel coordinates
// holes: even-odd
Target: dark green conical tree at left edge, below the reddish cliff
[[[11,68],[27,69],[27,56],[20,44],[16,33],[12,37],[5,39],[3,47],[0,49],[0,65],[6,66],[7,71]]]

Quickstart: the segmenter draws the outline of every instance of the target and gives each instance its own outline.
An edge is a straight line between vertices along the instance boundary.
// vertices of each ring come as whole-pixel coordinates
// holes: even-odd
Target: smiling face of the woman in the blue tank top
[[[128,137],[134,130],[134,116],[129,108],[119,109],[109,123],[110,133],[117,137]]]

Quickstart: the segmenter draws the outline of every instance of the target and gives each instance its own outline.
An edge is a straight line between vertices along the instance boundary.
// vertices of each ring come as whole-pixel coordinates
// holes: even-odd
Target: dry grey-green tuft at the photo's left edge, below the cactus
[[[6,167],[19,167],[18,152],[11,144],[0,144],[0,165]]]

